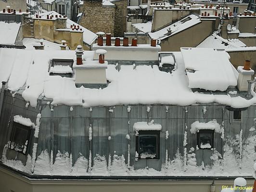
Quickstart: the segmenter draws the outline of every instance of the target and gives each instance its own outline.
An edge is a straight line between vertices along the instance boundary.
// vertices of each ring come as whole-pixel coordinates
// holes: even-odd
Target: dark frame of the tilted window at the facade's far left
[[[18,151],[18,150],[15,150],[15,148],[13,148],[13,149],[11,148],[12,147],[12,143],[14,142],[13,140],[14,140],[14,136],[15,136],[15,132],[16,132],[17,128],[23,129],[23,130],[27,131],[27,134],[26,134],[27,144],[26,144],[26,141],[25,141],[25,144],[26,144],[26,152],[25,153],[24,153],[24,147],[23,147],[22,151]],[[13,128],[12,128],[12,132],[11,132],[10,139],[9,139],[8,149],[11,149],[11,150],[13,150],[15,152],[21,153],[23,155],[27,155],[28,154],[30,140],[31,140],[31,137],[32,137],[31,133],[32,133],[32,127],[31,126],[26,126],[26,125],[23,125],[23,124],[20,124],[20,123],[17,123],[17,122],[13,121]],[[24,144],[24,146],[25,146],[25,144]]]

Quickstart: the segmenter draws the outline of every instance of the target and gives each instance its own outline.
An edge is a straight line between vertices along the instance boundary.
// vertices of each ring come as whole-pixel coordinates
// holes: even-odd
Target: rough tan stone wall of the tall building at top
[[[102,2],[84,1],[79,24],[97,33],[114,34],[115,7],[102,7]]]

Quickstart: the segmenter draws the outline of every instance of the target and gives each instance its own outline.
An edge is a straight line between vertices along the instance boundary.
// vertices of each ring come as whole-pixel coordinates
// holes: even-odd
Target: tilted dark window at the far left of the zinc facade
[[[26,149],[29,145],[30,136],[31,127],[13,122],[13,130],[11,132],[8,148],[22,154],[27,154],[28,150]]]

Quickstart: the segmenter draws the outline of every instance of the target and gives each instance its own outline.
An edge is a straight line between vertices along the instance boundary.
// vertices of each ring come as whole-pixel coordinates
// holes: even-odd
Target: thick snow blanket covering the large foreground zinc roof
[[[192,50],[206,53],[209,51],[206,54],[207,56],[214,52],[212,49],[192,48]],[[221,65],[217,63],[220,66],[219,70],[217,71],[217,68],[213,67],[212,75],[208,75],[207,78],[211,78],[214,81],[219,81],[218,78],[220,78],[224,81],[223,84],[229,84],[229,82],[231,82],[230,84],[235,84],[233,82],[236,80],[236,78],[234,79],[235,75],[231,74],[233,72],[232,66],[229,69],[227,55],[227,60],[224,58],[226,53],[224,51],[216,51],[214,53],[207,61],[221,60],[224,63],[221,63]],[[185,73],[185,63],[186,66],[194,66],[192,63],[188,63],[187,60],[198,61],[199,64],[194,67],[199,66],[199,69],[201,69],[202,60],[195,59],[196,53],[192,54],[192,56],[190,53],[181,54],[181,52],[174,52],[173,54],[177,63],[177,70],[171,74],[160,71],[157,65],[153,67],[151,65],[138,65],[136,69],[134,69],[133,65],[121,65],[120,71],[118,71],[115,65],[109,64],[106,69],[106,77],[110,82],[108,86],[104,89],[90,89],[83,86],[77,88],[74,78],[49,75],[48,69],[51,59],[76,60],[75,51],[0,48],[0,82],[8,80],[8,89],[18,91],[27,102],[30,102],[32,107],[37,106],[38,97],[51,99],[53,105],[80,105],[85,108],[132,104],[187,106],[195,103],[212,102],[233,108],[244,108],[256,103],[256,93],[253,90],[251,92],[253,98],[250,100],[228,94],[192,92],[191,88],[189,88],[188,76]],[[83,58],[92,60],[93,56],[94,51],[85,51]],[[206,58],[204,57],[203,59]],[[211,66],[213,63],[212,61],[209,62],[207,66]],[[215,77],[213,77],[214,74]],[[225,77],[220,77],[220,74],[224,74],[223,76]],[[189,78],[191,79],[191,77]],[[203,80],[205,80],[204,77],[202,77],[201,81]],[[210,90],[213,85],[217,86],[216,83],[212,84],[212,82],[205,84],[207,86],[205,89]]]

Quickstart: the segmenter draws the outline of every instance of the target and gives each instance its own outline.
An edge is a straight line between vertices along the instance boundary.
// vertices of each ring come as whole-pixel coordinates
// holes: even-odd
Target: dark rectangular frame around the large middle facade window
[[[140,155],[140,150],[139,150],[139,147],[140,147],[140,135],[151,135],[152,136],[157,136],[156,138],[156,156],[154,158],[150,158],[150,157],[146,157],[146,158],[141,158],[141,155]],[[156,130],[151,130],[151,131],[139,131],[139,135],[136,136],[136,152],[139,154],[138,156],[138,159],[160,159],[160,131],[156,131]]]

